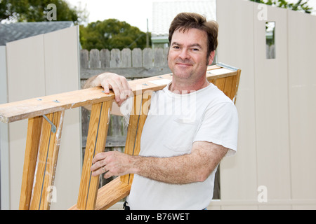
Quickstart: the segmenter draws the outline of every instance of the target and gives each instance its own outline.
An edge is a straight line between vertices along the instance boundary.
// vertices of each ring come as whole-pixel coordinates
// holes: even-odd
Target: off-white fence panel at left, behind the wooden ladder
[[[8,102],[79,89],[79,28],[7,43]],[[55,173],[56,202],[67,209],[77,202],[81,175],[79,109],[65,112]],[[10,123],[10,209],[18,209],[24,163],[27,120]],[[4,158],[1,158],[4,160]]]

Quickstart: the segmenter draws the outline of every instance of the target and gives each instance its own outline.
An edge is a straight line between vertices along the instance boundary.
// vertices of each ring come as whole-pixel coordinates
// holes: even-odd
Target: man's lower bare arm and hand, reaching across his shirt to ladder
[[[107,171],[105,178],[138,174],[164,183],[184,184],[205,181],[228,152],[227,148],[207,141],[196,141],[190,154],[154,158],[119,152],[99,153],[93,158],[92,175]]]

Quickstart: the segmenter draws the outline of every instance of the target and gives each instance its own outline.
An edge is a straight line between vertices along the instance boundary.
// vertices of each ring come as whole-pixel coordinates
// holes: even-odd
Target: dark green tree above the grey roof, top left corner
[[[70,8],[62,0],[1,0],[0,21],[9,22],[42,22],[47,21],[48,4],[55,4],[58,21],[73,21],[75,24],[86,20],[86,11],[80,8]]]

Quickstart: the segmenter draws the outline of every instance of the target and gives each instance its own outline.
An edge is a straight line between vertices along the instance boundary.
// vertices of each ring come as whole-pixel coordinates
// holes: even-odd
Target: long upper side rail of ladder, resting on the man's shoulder
[[[218,69],[218,66],[209,66],[209,70]],[[220,75],[207,72],[206,78],[212,80],[213,78],[223,78],[237,75],[237,71],[231,73],[224,73]],[[133,94],[142,94],[147,90],[162,90],[166,84],[154,84],[153,80],[172,80],[171,74],[161,76],[153,76],[150,78],[143,78],[139,80],[131,80],[129,84],[133,90]],[[218,80],[217,80],[218,82]],[[218,85],[218,83],[216,84]],[[53,94],[46,97],[38,97],[27,99],[20,102],[12,102],[0,105],[0,121],[4,123],[11,123],[15,120],[22,120],[41,116],[47,113],[61,111],[63,109],[72,109],[79,106],[86,106],[88,104],[96,104],[105,101],[112,101],[114,94],[104,94],[101,87],[93,87],[90,89],[76,90],[72,92],[64,92],[61,94]]]

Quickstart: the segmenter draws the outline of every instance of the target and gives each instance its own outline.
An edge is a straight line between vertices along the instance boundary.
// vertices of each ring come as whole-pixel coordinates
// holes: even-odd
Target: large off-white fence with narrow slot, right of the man
[[[238,153],[223,160],[221,200],[210,209],[316,209],[316,17],[220,0],[217,21],[218,62],[242,75]],[[275,59],[265,58],[268,21],[276,22]]]

